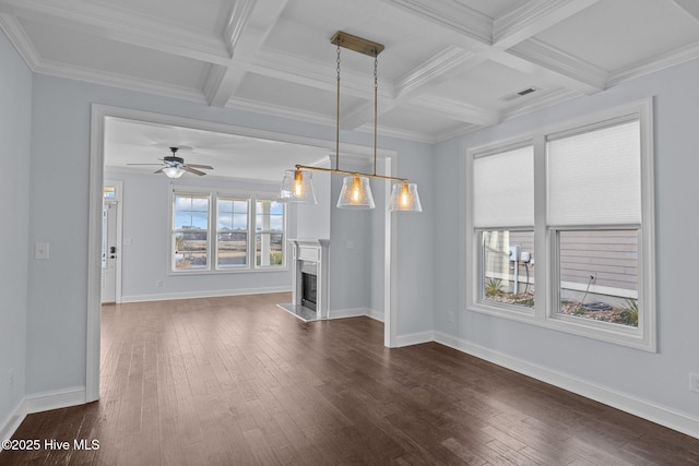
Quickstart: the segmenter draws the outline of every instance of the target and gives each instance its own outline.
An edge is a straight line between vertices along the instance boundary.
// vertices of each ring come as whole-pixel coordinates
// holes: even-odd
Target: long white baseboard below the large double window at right
[[[441,332],[435,332],[435,342],[699,439],[699,418],[697,417],[552,371]]]

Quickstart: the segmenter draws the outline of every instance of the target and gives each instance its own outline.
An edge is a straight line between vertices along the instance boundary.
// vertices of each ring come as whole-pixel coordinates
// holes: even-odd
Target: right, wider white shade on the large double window
[[[638,120],[547,142],[548,224],[641,222]]]

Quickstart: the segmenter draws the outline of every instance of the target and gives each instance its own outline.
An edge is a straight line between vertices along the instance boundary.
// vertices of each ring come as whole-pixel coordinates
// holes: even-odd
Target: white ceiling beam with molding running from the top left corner
[[[0,0],[0,12],[199,61],[225,64],[230,60],[228,50],[217,37],[180,24],[130,14],[106,3]]]

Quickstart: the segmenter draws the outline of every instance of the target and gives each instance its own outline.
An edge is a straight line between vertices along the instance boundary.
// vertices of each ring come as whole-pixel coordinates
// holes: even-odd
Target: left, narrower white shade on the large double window
[[[534,148],[525,146],[473,160],[476,228],[534,225]]]

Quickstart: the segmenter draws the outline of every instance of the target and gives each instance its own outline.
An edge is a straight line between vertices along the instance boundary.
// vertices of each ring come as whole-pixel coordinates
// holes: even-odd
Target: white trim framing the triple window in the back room
[[[209,196],[209,229],[208,229],[208,251],[209,256],[206,261],[206,268],[199,270],[189,270],[185,268],[181,271],[175,270],[175,254],[173,247],[173,216],[175,215],[175,195],[208,195]],[[216,256],[216,242],[217,242],[217,229],[216,229],[216,219],[217,219],[217,200],[218,198],[223,199],[239,199],[239,200],[248,200],[250,206],[248,208],[248,256],[247,264],[241,267],[218,267],[217,256]],[[284,241],[282,249],[282,265],[280,266],[256,266],[254,265],[254,239],[257,231],[254,229],[256,225],[256,208],[257,201],[276,201],[275,194],[269,192],[258,192],[258,191],[249,191],[249,192],[240,192],[240,191],[221,191],[216,189],[202,189],[197,187],[171,187],[169,189],[168,195],[168,241],[167,241],[167,271],[166,274],[168,276],[181,276],[181,275],[229,275],[229,274],[250,274],[250,273],[276,273],[276,272],[287,272],[288,268],[288,260],[287,260],[287,241],[288,237],[288,208],[284,205]]]

